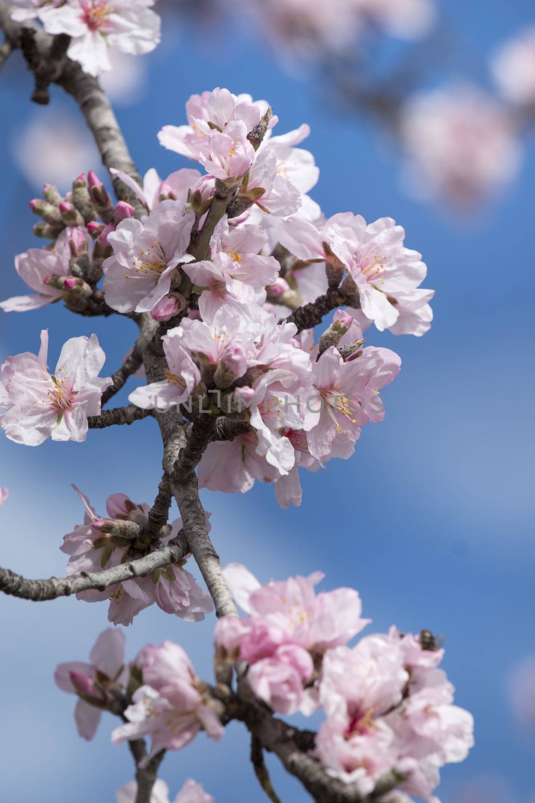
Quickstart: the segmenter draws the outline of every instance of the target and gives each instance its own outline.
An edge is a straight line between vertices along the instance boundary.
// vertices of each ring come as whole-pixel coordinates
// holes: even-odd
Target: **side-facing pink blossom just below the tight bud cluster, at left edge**
[[[68,287],[61,290],[50,283],[51,276],[70,276],[71,251],[69,241],[76,238],[80,239],[87,247],[91,247],[91,240],[80,228],[67,228],[59,234],[55,242],[54,250],[47,248],[30,248],[23,254],[15,257],[15,269],[31,290],[35,291],[31,296],[15,296],[14,298],[0,302],[0,308],[4,312],[26,312],[30,309],[39,309],[64,298]]]

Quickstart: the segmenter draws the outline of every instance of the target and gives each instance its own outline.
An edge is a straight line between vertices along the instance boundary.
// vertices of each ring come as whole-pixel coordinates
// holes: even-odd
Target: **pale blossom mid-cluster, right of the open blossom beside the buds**
[[[272,256],[261,256],[267,234],[261,226],[231,228],[226,216],[210,240],[210,259],[184,267],[200,289],[199,310],[211,320],[225,301],[241,304],[265,300],[265,285],[276,279],[280,265]]]

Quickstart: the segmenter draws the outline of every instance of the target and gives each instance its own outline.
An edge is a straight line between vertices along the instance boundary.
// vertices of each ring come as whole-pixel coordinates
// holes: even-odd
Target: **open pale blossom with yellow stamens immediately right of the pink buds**
[[[104,294],[118,312],[150,312],[171,289],[175,268],[191,262],[186,253],[193,211],[166,201],[141,220],[128,218],[108,235],[113,256],[104,260]]]

